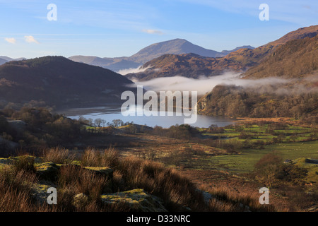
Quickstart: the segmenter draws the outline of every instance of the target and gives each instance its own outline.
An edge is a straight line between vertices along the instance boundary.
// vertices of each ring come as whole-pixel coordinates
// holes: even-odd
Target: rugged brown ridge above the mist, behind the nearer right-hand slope
[[[131,73],[126,76],[127,78],[135,78],[139,81],[147,81],[152,78],[167,76],[184,76],[190,78],[198,78],[202,75],[215,76],[228,70],[243,72],[253,66],[257,66],[261,63],[261,61],[266,60],[266,57],[271,56],[277,48],[287,44],[287,42],[292,40],[303,40],[306,37],[315,37],[317,34],[318,25],[300,28],[261,47],[257,47],[255,49],[237,49],[235,52],[230,52],[225,57],[217,59],[199,57],[192,54],[181,56],[175,56],[173,54],[165,55],[143,64],[141,68],[146,69],[146,71]],[[306,45],[307,43],[304,44]],[[291,47],[290,44],[288,44],[285,49],[289,48],[294,47]],[[309,57],[310,54],[307,55]]]

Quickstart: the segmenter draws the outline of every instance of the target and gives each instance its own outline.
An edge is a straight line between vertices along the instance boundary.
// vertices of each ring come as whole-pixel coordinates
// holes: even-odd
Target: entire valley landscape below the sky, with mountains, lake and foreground
[[[317,34],[222,52],[175,39],[131,57],[0,57],[0,210],[317,212]],[[198,124],[122,117],[122,93],[170,87],[159,78],[201,91]],[[47,186],[61,205],[45,203]]]

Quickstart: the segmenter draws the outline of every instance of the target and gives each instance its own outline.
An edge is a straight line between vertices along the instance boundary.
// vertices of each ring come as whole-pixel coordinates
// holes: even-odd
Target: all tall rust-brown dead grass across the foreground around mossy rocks
[[[60,151],[59,151],[60,150]],[[54,156],[57,155],[57,156]],[[64,162],[58,177],[59,205],[49,206],[37,204],[30,192],[32,184],[37,183],[37,177],[30,165],[34,162],[19,163],[0,169],[0,210],[2,211],[131,211],[123,203],[106,205],[100,201],[104,189],[109,189],[107,177],[90,172],[80,165],[65,164],[73,160],[81,161],[82,166],[110,167],[114,170],[112,192],[130,189],[144,189],[163,199],[165,208],[169,211],[242,211],[240,203],[249,206],[254,211],[274,211],[267,206],[259,206],[258,198],[249,194],[236,194],[225,188],[204,189],[214,197],[206,206],[204,196],[196,184],[188,177],[182,176],[177,169],[168,168],[160,162],[143,160],[138,157],[119,157],[114,148],[99,151],[87,148],[81,156],[73,158],[65,149],[51,149],[43,155],[45,161],[56,160]],[[71,156],[71,157],[70,157]],[[31,158],[32,159],[32,158]],[[30,168],[29,168],[30,167]],[[73,205],[76,194],[88,196],[88,202],[82,206]]]

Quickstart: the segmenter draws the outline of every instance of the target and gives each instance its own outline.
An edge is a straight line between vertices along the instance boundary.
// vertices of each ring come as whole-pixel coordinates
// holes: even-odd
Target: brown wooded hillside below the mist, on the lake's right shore
[[[259,92],[256,88],[217,85],[198,103],[201,114],[226,117],[295,117],[318,123],[318,93]]]

